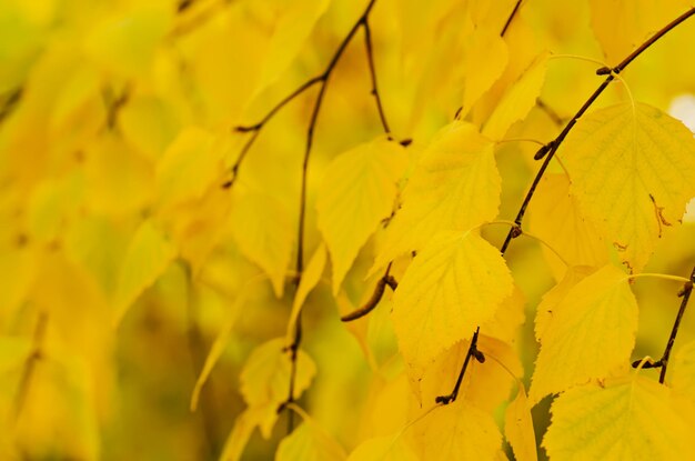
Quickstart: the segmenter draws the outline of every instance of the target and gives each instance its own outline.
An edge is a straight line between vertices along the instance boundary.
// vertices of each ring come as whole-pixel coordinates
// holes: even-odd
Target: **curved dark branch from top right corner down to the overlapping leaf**
[[[592,93],[592,96],[586,100],[586,102],[584,102],[584,104],[574,114],[574,117],[570,120],[570,122],[565,126],[565,128],[560,132],[557,138],[551,141],[552,146],[547,151],[547,157],[545,158],[545,160],[543,161],[543,164],[541,166],[541,169],[536,173],[536,177],[534,178],[533,183],[531,184],[531,188],[528,189],[528,192],[526,193],[526,197],[524,198],[524,201],[521,208],[518,209],[518,213],[516,213],[516,218],[514,219],[514,222],[521,226],[522,220],[524,219],[524,214],[526,213],[526,208],[528,207],[528,203],[531,202],[531,199],[533,198],[536,187],[541,182],[541,179],[543,178],[543,174],[545,173],[547,166],[550,164],[553,157],[555,157],[555,152],[557,151],[562,142],[565,140],[565,138],[567,137],[572,128],[576,124],[577,120],[586,112],[586,110],[596,101],[596,99],[601,96],[601,93],[603,93],[603,91],[608,87],[608,84],[615,79],[615,74],[625,70],[625,68],[635,58],[642,54],[647,48],[654,44],[659,38],[666,34],[669,30],[672,30],[673,28],[675,28],[676,26],[678,26],[681,22],[685,21],[687,18],[689,18],[693,14],[695,14],[695,8],[691,8],[688,11],[686,11],[685,13],[681,14],[678,18],[671,21],[668,24],[662,28],[658,32],[652,36],[652,38],[649,38],[647,41],[642,43],[635,51],[629,53],[629,56],[627,56],[627,58],[625,58],[620,64],[613,68],[613,72],[606,77],[603,83],[601,83],[598,88]],[[510,230],[510,232],[506,234],[506,238],[504,239],[504,243],[502,244],[502,249],[501,249],[502,254],[505,253],[506,249],[510,245],[510,242],[512,241],[512,238],[513,238],[512,231]]]

